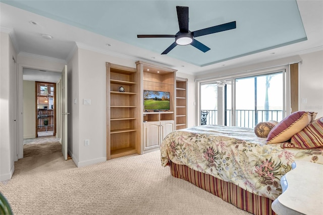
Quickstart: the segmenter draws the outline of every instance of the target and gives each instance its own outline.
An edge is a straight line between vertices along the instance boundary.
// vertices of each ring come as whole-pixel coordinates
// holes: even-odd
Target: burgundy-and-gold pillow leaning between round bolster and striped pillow
[[[298,111],[289,115],[269,132],[267,144],[288,141],[312,121],[312,115],[313,113],[305,111]]]

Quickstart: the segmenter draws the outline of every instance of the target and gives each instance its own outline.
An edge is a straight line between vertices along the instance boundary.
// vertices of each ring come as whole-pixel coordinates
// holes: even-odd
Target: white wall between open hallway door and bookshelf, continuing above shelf
[[[122,59],[86,49],[78,49],[78,86],[73,86],[73,97],[77,99],[79,117],[72,114],[73,127],[78,123],[78,167],[106,160],[106,67],[105,62],[136,68],[135,60]],[[73,69],[74,77],[74,69]],[[74,92],[78,92],[77,94]],[[91,99],[84,105],[83,99]],[[74,108],[73,108],[74,111]],[[75,134],[73,134],[74,138]],[[85,146],[84,140],[90,145]],[[73,154],[76,150],[73,150]]]

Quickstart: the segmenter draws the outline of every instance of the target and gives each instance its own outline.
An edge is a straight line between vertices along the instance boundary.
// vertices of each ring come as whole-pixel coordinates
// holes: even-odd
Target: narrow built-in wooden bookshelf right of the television
[[[176,130],[187,128],[187,79],[176,79]]]

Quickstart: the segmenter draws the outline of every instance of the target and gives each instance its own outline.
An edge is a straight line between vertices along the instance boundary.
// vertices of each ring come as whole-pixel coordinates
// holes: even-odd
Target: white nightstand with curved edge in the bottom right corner
[[[272,203],[278,214],[323,214],[323,165],[296,161],[281,179],[283,193]]]

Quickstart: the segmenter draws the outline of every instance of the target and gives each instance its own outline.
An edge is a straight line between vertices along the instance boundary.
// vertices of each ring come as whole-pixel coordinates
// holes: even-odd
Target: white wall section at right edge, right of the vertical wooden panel
[[[323,117],[323,51],[302,55],[299,66],[299,110]],[[306,98],[307,103],[302,102]]]

